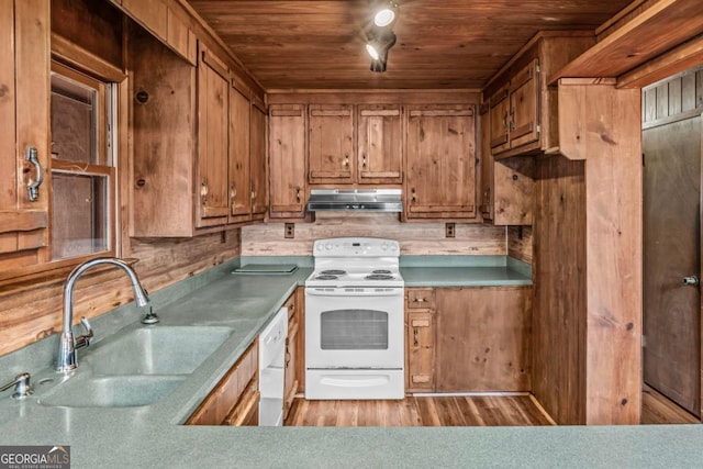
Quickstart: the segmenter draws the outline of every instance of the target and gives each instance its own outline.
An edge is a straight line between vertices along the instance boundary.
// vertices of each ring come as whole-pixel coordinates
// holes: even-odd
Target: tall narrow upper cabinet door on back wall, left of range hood
[[[305,212],[305,107],[271,104],[268,120],[270,216],[297,219]]]

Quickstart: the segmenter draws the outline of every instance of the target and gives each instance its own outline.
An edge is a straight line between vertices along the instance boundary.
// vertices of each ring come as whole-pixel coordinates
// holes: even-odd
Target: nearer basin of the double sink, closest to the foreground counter
[[[38,402],[63,407],[137,407],[167,398],[185,376],[75,377]]]

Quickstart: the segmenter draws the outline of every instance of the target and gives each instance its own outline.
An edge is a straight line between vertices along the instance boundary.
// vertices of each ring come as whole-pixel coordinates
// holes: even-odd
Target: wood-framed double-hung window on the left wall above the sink
[[[52,64],[52,260],[114,255],[113,93]]]

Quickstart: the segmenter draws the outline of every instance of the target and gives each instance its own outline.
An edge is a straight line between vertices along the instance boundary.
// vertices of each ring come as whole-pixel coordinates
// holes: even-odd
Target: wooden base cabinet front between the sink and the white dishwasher
[[[258,342],[254,342],[244,355],[220,380],[214,390],[188,418],[187,425],[222,425],[233,418],[233,409],[247,392],[258,392]]]

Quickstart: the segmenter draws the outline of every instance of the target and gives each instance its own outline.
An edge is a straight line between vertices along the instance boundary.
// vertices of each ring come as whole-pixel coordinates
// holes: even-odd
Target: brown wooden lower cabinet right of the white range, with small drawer
[[[408,392],[531,390],[532,287],[436,288],[429,309],[412,302],[414,290],[405,309]]]

